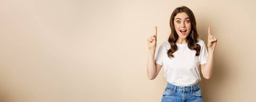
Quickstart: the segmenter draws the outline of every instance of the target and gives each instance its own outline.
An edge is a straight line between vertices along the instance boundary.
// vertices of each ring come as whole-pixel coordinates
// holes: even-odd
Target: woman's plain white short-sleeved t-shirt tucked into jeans
[[[156,64],[164,68],[164,77],[168,83],[177,86],[188,86],[198,83],[200,77],[200,64],[207,62],[208,52],[203,40],[198,39],[201,46],[199,56],[196,51],[190,50],[187,44],[177,44],[178,50],[173,53],[174,58],[169,58],[167,51],[170,49],[169,42],[163,42],[156,54]]]

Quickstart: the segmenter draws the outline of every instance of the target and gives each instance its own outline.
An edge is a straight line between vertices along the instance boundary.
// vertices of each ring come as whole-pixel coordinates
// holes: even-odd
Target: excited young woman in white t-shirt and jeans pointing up
[[[170,17],[170,37],[163,42],[155,56],[156,33],[148,38],[148,79],[155,79],[160,69],[164,68],[167,86],[162,95],[162,102],[201,102],[198,82],[200,70],[205,79],[210,79],[214,71],[214,49],[217,38],[208,28],[208,52],[203,40],[197,33],[195,16],[188,7],[177,7]]]

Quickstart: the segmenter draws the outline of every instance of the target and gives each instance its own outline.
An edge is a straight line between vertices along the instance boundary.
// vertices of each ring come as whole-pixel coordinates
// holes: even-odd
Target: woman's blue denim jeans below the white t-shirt
[[[162,102],[203,102],[203,95],[198,84],[179,87],[167,83]]]

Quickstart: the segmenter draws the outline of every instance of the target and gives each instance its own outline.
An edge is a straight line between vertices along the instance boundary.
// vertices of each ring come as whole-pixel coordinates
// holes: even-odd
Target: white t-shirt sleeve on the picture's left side
[[[156,64],[162,65],[164,56],[167,56],[167,50],[166,47],[164,46],[164,43],[162,43],[161,46],[158,48],[158,52],[156,53]]]

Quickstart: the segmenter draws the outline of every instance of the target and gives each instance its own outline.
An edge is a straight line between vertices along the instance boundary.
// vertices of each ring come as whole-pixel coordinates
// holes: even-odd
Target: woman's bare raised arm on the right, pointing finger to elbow
[[[217,38],[211,34],[210,27],[208,28],[208,59],[206,64],[201,64],[201,72],[205,79],[210,79],[214,74],[214,50],[216,48]]]

